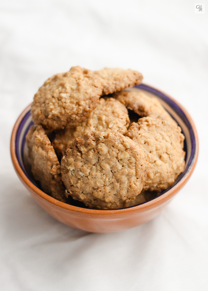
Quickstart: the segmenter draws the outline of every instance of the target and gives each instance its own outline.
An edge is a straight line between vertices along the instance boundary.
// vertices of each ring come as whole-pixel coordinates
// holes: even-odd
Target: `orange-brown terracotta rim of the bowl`
[[[73,206],[73,205],[61,202],[59,200],[56,200],[55,198],[53,198],[53,197],[49,196],[48,194],[44,193],[43,191],[41,191],[38,187],[36,187],[27,178],[27,176],[25,175],[24,171],[22,170],[22,168],[18,162],[17,156],[16,156],[15,141],[16,141],[17,130],[19,128],[19,125],[20,125],[23,117],[31,108],[32,103],[29,104],[27,106],[27,108],[24,109],[24,111],[17,118],[17,121],[13,127],[13,131],[11,134],[11,141],[10,141],[10,154],[11,154],[12,163],[13,163],[13,166],[15,168],[17,175],[20,177],[20,180],[23,181],[23,184],[25,183],[32,191],[34,191],[36,194],[38,194],[38,196],[42,197],[43,199],[47,200],[48,202],[50,202],[56,206],[59,206],[59,207],[64,208],[66,210],[71,210],[73,212],[81,212],[81,213],[85,213],[85,214],[110,215],[110,214],[121,214],[121,213],[132,212],[132,211],[144,212],[146,210],[152,209],[154,207],[157,207],[157,206],[165,203],[165,201],[169,200],[171,197],[173,197],[175,194],[177,194],[177,192],[186,184],[186,182],[190,178],[190,176],[193,173],[193,170],[196,166],[196,163],[197,163],[199,144],[198,144],[198,135],[197,135],[196,127],[193,123],[191,116],[187,112],[187,110],[178,101],[176,101],[174,98],[170,97],[168,94],[164,93],[163,91],[156,89],[155,87],[149,86],[148,84],[144,84],[144,83],[142,83],[142,84],[145,86],[148,86],[152,89],[155,89],[156,91],[169,97],[173,102],[175,102],[182,109],[186,118],[188,119],[189,123],[191,124],[192,130],[194,133],[194,137],[195,137],[195,142],[196,142],[195,155],[193,156],[192,164],[191,164],[190,168],[188,168],[186,175],[184,175],[184,177],[181,178],[181,180],[177,184],[175,184],[171,189],[169,189],[164,194],[162,194],[162,195],[160,195],[160,196],[158,196],[150,201],[147,201],[147,202],[139,204],[139,205],[131,206],[131,207],[121,208],[121,209],[113,209],[113,210],[87,209],[87,208]]]

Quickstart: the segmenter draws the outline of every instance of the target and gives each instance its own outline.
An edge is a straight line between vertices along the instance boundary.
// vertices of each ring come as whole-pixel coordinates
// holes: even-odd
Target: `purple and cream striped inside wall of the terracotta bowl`
[[[137,85],[137,86],[135,86],[135,88],[142,89],[142,90],[147,91],[151,94],[154,94],[156,97],[158,97],[160,99],[162,105],[165,107],[165,109],[170,113],[172,118],[174,120],[176,120],[176,122],[179,124],[179,126],[181,127],[182,132],[185,136],[185,140],[184,140],[184,150],[186,151],[185,169],[184,169],[183,173],[181,173],[179,175],[177,180],[175,180],[175,182],[172,186],[161,191],[161,193],[159,195],[159,196],[161,196],[164,193],[166,193],[169,189],[174,187],[174,185],[177,184],[179,182],[179,180],[181,180],[188,173],[189,169],[191,168],[191,166],[194,162],[195,155],[196,155],[195,135],[194,135],[193,129],[191,127],[191,124],[190,124],[188,118],[186,117],[185,113],[181,109],[181,107],[179,105],[177,105],[173,100],[171,100],[167,95],[165,95],[164,93],[162,93],[162,92],[160,92],[160,91],[158,91],[150,86],[147,86],[145,84]],[[36,187],[38,187],[40,190],[42,190],[39,187],[39,185],[37,184],[37,182],[35,180],[33,180],[33,178],[31,178],[28,175],[26,168],[25,168],[25,165],[24,165],[24,157],[26,155],[26,150],[27,150],[25,136],[26,136],[26,134],[27,134],[27,132],[32,124],[33,124],[33,122],[31,120],[31,114],[30,114],[30,110],[29,110],[25,114],[25,116],[22,118],[20,126],[17,130],[16,140],[15,140],[15,151],[16,151],[16,155],[17,155],[17,160],[18,160],[22,170],[24,171],[25,175],[27,176],[27,178]],[[144,203],[146,203],[146,202],[144,202]],[[140,203],[140,204],[143,204],[143,203]],[[137,204],[137,205],[139,205],[139,204]],[[136,205],[133,205],[130,207],[134,207],[134,206],[136,206]]]

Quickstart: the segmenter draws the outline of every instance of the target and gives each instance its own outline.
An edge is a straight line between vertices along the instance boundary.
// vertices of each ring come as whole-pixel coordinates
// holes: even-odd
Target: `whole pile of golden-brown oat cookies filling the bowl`
[[[73,67],[40,87],[26,140],[43,191],[115,209],[145,199],[142,189],[174,183],[184,169],[184,136],[156,98],[126,89],[141,81],[132,70]],[[138,119],[130,126],[127,109]]]

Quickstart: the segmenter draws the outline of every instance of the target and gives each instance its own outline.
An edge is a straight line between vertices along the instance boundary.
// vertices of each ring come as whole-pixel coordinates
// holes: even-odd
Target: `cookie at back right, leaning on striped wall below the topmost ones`
[[[135,113],[142,117],[164,116],[167,119],[169,118],[172,119],[172,117],[163,108],[163,106],[156,97],[150,97],[149,95],[138,89],[116,92],[113,94],[112,97],[116,98],[121,103],[123,103],[128,109],[133,110]]]

